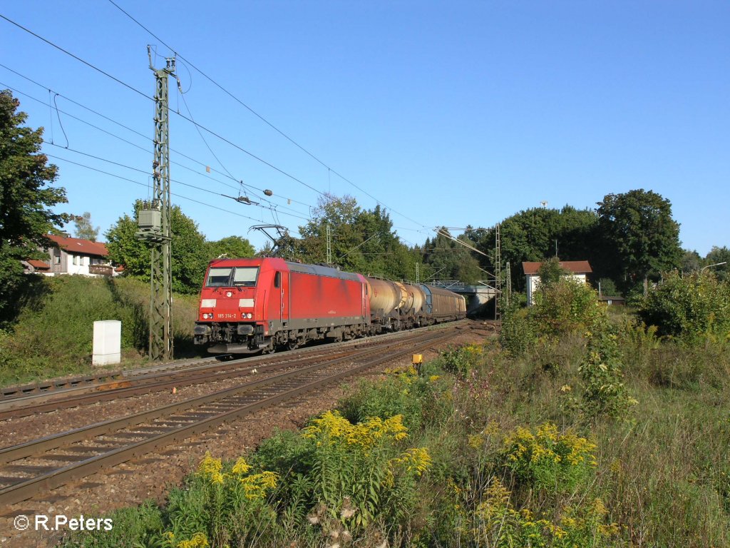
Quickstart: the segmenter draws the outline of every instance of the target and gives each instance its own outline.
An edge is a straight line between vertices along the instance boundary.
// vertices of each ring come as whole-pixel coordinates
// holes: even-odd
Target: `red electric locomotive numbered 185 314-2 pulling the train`
[[[218,259],[205,275],[195,343],[212,343],[213,353],[237,354],[365,335],[366,292],[364,276],[334,268],[283,259]]]

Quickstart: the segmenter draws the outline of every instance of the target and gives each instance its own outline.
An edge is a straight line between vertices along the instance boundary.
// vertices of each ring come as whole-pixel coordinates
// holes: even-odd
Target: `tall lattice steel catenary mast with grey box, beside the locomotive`
[[[155,156],[153,199],[139,211],[137,237],[150,244],[150,359],[172,359],[172,259],[170,253],[170,172],[168,77],[174,76],[175,59],[166,58],[164,69],[155,69],[147,46],[150,69],[155,73]]]

